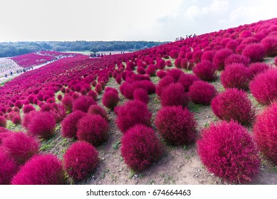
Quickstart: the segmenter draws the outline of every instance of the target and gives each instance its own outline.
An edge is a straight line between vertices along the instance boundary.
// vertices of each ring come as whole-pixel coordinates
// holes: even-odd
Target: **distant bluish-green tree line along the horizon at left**
[[[14,57],[39,50],[55,51],[135,51],[167,42],[157,41],[39,41],[0,42],[0,58]]]

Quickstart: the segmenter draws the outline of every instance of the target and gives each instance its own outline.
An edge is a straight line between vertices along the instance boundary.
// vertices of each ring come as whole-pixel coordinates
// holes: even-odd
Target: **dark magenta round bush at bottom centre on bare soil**
[[[121,154],[127,166],[142,171],[157,162],[162,156],[162,145],[150,127],[137,124],[129,129],[121,141]]]

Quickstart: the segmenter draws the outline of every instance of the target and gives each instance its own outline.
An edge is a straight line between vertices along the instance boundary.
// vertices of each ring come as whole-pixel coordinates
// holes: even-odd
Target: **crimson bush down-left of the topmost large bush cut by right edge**
[[[246,45],[246,48],[242,50],[241,54],[250,58],[251,62],[254,63],[263,61],[263,58],[266,56],[266,50],[261,43],[252,43]]]

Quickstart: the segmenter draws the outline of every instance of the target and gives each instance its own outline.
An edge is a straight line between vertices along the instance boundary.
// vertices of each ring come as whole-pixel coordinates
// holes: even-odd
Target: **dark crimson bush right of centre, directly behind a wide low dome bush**
[[[198,63],[192,69],[195,75],[204,81],[213,81],[216,79],[216,68],[214,65],[207,61],[203,60],[201,63]]]

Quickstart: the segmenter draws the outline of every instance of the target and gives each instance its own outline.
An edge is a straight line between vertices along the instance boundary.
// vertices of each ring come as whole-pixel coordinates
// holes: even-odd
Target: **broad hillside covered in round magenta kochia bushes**
[[[4,144],[23,131],[39,144],[26,153],[53,154],[61,169],[22,174],[15,166],[6,182],[30,175],[33,183],[276,184],[276,55],[273,18],[134,53],[65,56],[25,72],[0,88],[0,146],[14,158],[16,144]],[[82,146],[65,168],[64,154],[80,141],[99,158]],[[20,166],[32,161],[23,155]]]

